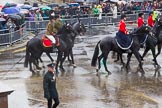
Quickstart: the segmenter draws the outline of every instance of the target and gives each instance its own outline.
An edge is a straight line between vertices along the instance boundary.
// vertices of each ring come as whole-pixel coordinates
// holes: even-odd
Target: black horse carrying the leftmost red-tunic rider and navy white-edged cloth
[[[133,39],[133,43],[132,43],[132,46],[130,47],[130,50],[132,52],[128,53],[128,61],[126,64],[127,70],[129,67],[129,59],[133,53],[139,62],[139,67],[140,67],[141,72],[144,74],[144,70],[143,70],[143,66],[142,66],[142,62],[141,62],[141,55],[138,51],[140,49],[140,42],[144,38],[143,34],[149,33],[150,30],[151,30],[150,27],[144,25],[130,34],[131,38]],[[101,49],[100,55],[99,55],[99,47]],[[122,53],[126,52],[126,50],[122,50],[117,45],[114,37],[106,37],[106,38],[100,40],[95,47],[95,51],[94,51],[92,61],[91,61],[91,66],[96,66],[97,59],[98,59],[97,73],[98,73],[99,69],[101,68],[100,61],[103,58],[103,64],[105,67],[105,71],[107,71],[108,74],[111,74],[111,72],[107,69],[107,66],[106,66],[106,60],[107,60],[107,57],[108,57],[108,54],[110,53],[110,51],[115,51],[115,52],[119,53],[120,55]]]

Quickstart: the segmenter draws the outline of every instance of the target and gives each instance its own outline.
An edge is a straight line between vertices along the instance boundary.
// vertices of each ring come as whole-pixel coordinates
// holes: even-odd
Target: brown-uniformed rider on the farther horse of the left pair
[[[56,34],[59,29],[63,26],[63,23],[60,19],[60,16],[58,14],[55,15],[55,22],[54,22],[54,28],[53,28],[53,31],[54,33]],[[59,38],[57,35],[55,35],[55,39],[56,39],[56,46],[59,46],[60,45],[60,42],[59,42]]]

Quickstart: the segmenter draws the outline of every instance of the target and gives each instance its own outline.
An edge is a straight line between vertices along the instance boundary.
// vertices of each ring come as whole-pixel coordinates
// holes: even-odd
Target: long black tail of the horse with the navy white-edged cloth
[[[95,51],[93,53],[93,57],[92,57],[92,61],[91,61],[91,66],[96,66],[96,63],[97,63],[97,58],[98,58],[98,55],[99,55],[99,43],[100,41],[97,43],[96,47],[95,47]]]

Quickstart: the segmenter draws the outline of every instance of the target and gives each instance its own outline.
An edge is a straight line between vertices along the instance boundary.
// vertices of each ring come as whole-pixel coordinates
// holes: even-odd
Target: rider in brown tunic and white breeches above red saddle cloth
[[[55,22],[55,17],[51,15],[49,17],[50,21],[47,25],[47,31],[46,31],[46,37],[52,41],[53,46],[56,44],[56,40],[54,38],[55,36],[55,31],[54,31],[54,22]]]

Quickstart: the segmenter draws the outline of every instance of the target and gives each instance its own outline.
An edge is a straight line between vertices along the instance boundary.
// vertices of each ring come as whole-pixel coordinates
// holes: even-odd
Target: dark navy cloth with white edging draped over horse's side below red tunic
[[[128,50],[133,44],[133,40],[120,31],[116,33],[115,41],[122,50]]]

